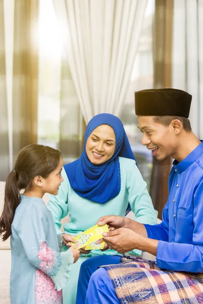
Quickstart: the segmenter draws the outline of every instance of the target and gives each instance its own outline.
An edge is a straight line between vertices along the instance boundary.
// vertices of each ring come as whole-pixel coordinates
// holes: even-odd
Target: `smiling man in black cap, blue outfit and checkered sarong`
[[[110,226],[103,234],[110,248],[119,253],[140,249],[156,255],[156,261],[89,259],[81,267],[78,304],[203,303],[203,143],[188,120],[191,98],[176,89],[135,93],[142,144],[158,161],[175,159],[162,222],[153,226],[105,216],[98,224]],[[106,266],[96,270],[100,265]]]

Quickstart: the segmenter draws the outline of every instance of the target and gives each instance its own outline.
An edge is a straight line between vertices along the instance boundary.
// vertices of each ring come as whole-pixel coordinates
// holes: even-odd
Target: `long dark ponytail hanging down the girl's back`
[[[20,204],[20,189],[18,187],[17,174],[15,170],[12,170],[6,180],[5,203],[0,218],[0,235],[3,235],[3,241],[6,241],[11,235],[11,224],[16,208]]]

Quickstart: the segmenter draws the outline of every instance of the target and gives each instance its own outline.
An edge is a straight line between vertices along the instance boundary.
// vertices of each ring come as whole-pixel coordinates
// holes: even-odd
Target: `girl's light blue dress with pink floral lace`
[[[40,198],[21,195],[12,222],[11,304],[62,304],[70,250],[60,253],[51,212]]]

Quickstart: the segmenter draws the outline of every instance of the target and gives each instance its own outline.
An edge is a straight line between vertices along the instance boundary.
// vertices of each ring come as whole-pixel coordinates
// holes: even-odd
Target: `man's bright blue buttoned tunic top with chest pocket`
[[[159,268],[203,272],[203,143],[173,165],[163,220],[145,227],[149,238],[159,240]]]

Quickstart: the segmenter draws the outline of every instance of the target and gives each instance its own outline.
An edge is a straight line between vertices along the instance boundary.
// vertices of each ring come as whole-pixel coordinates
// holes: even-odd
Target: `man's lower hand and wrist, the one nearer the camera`
[[[103,240],[109,247],[119,253],[139,249],[156,255],[158,241],[148,239],[131,229],[119,228],[115,231],[104,232],[103,236]]]

